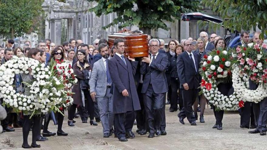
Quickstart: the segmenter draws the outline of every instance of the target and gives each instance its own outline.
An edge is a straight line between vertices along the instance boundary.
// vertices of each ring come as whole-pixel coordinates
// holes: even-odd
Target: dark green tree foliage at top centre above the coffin
[[[174,19],[180,19],[182,12],[196,11],[200,0],[96,0],[96,2],[98,5],[90,11],[95,12],[97,16],[117,13],[117,18],[104,28],[122,23],[122,27],[139,25],[139,28],[167,29],[163,20],[174,22]],[[133,9],[134,4],[137,5],[137,10]]]

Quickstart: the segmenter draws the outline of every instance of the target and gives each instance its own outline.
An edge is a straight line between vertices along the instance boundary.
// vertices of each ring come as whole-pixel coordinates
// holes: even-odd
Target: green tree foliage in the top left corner
[[[38,30],[44,0],[0,0],[0,35],[23,36]]]

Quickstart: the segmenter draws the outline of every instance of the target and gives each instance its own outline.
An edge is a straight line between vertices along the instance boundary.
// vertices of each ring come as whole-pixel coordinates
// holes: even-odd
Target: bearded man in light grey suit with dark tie
[[[108,138],[112,135],[113,125],[113,100],[110,93],[112,81],[108,68],[110,52],[104,43],[98,46],[98,50],[102,58],[94,63],[89,81],[90,95],[93,99],[97,98],[100,120],[103,126],[103,137]]]

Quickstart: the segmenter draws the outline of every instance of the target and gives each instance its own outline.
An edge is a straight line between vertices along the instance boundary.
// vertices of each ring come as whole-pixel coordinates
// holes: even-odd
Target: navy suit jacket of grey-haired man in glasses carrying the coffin
[[[141,93],[146,93],[150,79],[152,88],[156,94],[165,93],[168,91],[167,78],[165,70],[170,65],[168,56],[163,53],[158,53],[154,61],[149,64],[142,62],[140,73],[145,75]]]

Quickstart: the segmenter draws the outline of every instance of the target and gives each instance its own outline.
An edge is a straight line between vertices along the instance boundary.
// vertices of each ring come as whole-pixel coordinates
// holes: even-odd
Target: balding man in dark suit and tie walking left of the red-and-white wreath
[[[184,102],[184,108],[182,108],[178,117],[181,124],[184,124],[184,118],[186,117],[191,125],[197,125],[196,118],[193,115],[192,105],[198,96],[199,60],[198,54],[193,53],[192,48],[192,42],[190,40],[184,41],[185,51],[177,58],[177,71]]]

